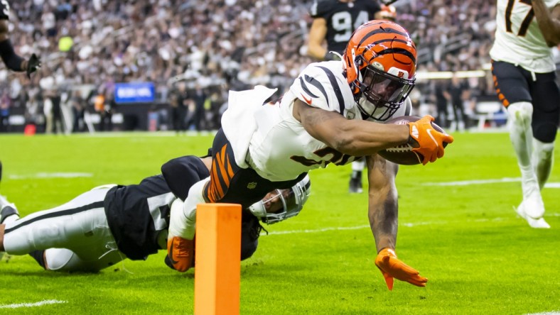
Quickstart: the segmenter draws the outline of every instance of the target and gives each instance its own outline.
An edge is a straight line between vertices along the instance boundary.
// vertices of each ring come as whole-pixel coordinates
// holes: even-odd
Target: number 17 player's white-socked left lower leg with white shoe
[[[510,140],[517,155],[517,164],[519,165],[519,170],[521,170],[522,179],[523,201],[517,208],[517,213],[525,219],[529,218],[538,221],[542,219],[544,214],[544,203],[539,188],[539,180],[532,163],[534,139],[531,126],[532,114],[533,106],[527,101],[512,103],[510,106],[507,106]],[[529,222],[529,225],[541,227],[536,222]]]

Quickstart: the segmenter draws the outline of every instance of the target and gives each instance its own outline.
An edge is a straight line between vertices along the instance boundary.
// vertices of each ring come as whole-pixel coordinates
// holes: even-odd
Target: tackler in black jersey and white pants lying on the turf
[[[0,252],[29,254],[45,270],[66,272],[98,272],[126,258],[146,260],[166,248],[169,216],[182,211],[190,185],[210,175],[210,159],[178,157],[161,167],[161,175],[139,184],[95,187],[21,219],[16,206],[0,196]],[[242,212],[241,260],[257,250],[259,221],[271,224],[296,216],[310,186],[306,177]],[[168,256],[165,262],[173,268]]]

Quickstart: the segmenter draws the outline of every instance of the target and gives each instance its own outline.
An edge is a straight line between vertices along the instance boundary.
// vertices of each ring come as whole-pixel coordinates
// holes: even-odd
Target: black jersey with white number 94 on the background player
[[[381,6],[374,0],[315,0],[311,6],[312,18],[327,21],[327,50],[344,53],[348,40],[358,26],[373,20]]]

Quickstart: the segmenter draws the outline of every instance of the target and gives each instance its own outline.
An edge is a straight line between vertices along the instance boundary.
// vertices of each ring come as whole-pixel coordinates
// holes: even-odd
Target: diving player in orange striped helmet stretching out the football
[[[394,278],[424,287],[427,279],[395,254],[398,165],[377,152],[409,143],[425,165],[443,157],[443,143],[453,137],[434,130],[431,116],[406,125],[375,122],[409,113],[405,100],[415,72],[416,47],[409,33],[397,23],[369,21],[353,33],[343,60],[308,65],[279,104],[265,104],[274,89],[230,91],[212,144],[211,176],[190,188],[183,211],[171,213],[168,253],[193,252],[199,203],[246,208],[273,188],[292,187],[310,170],[365,156],[375,264],[389,289]],[[173,261],[184,272],[192,258]]]

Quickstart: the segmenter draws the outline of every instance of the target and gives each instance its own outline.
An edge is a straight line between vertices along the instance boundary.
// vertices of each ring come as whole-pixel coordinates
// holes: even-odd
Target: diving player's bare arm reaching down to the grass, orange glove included
[[[379,155],[367,158],[369,181],[370,227],[375,238],[377,257],[375,265],[381,271],[389,290],[393,289],[394,278],[419,287],[428,281],[414,268],[397,258],[394,248],[397,243],[398,201],[394,178],[398,165],[384,160]]]

